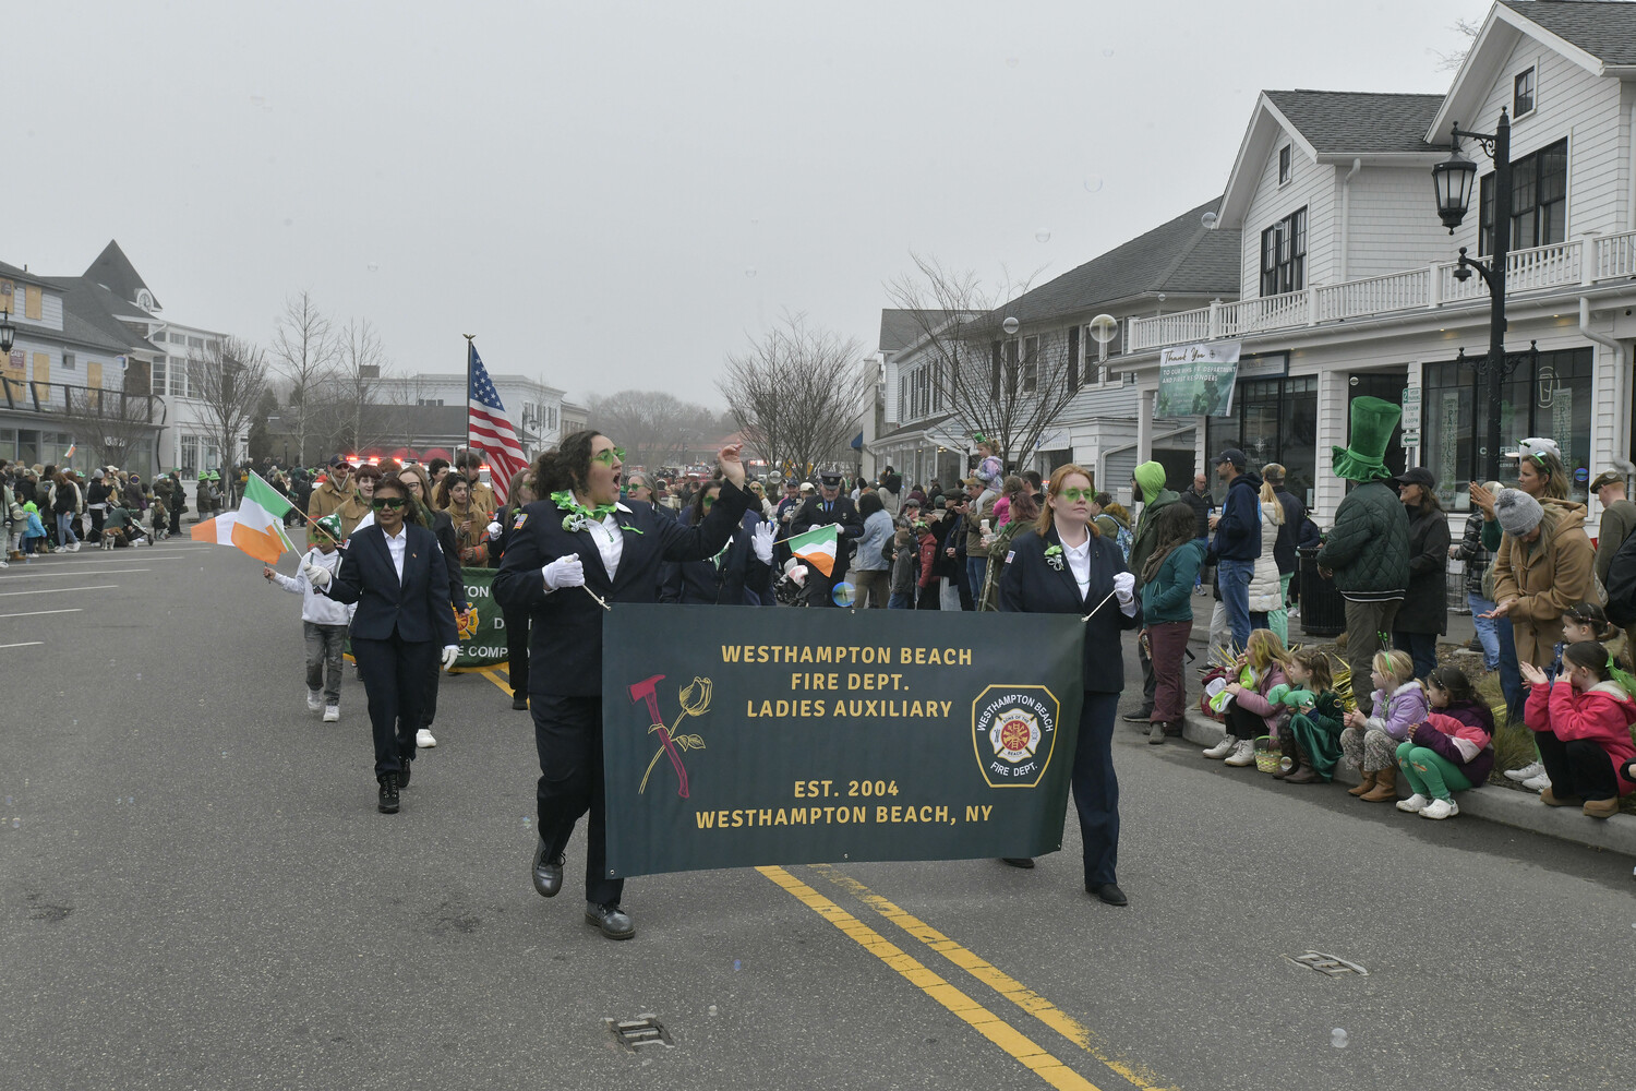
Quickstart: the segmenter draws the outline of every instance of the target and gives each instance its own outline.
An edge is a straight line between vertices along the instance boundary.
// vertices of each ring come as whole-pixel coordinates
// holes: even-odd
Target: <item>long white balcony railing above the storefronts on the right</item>
[[[1436,309],[1484,299],[1489,294],[1481,276],[1472,275],[1461,281],[1454,278],[1456,268],[1456,262],[1440,262],[1427,268],[1348,280],[1279,296],[1216,303],[1155,317],[1132,317],[1127,352],[1247,337],[1397,311]],[[1505,262],[1507,294],[1593,285],[1603,280],[1636,280],[1636,232],[1515,250]]]

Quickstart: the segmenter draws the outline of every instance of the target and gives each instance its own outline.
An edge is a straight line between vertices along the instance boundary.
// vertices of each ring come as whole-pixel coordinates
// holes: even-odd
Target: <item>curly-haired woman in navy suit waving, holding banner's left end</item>
[[[532,615],[528,707],[540,754],[533,887],[546,898],[561,890],[568,839],[589,811],[586,919],[609,939],[630,939],[636,926],[620,908],[625,882],[607,877],[602,600],[654,602],[663,561],[699,561],[726,545],[751,496],[738,445],[723,447],[717,465],[720,497],[702,523],[687,527],[640,501],[622,504],[623,451],[600,432],[574,432],[535,463],[537,487],[548,499],[512,520],[494,574],[501,608]]]

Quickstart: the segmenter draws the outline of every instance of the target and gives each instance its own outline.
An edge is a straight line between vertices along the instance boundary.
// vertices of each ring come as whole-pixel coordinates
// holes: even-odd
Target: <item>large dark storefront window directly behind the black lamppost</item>
[[[1569,496],[1584,504],[1590,479],[1590,379],[1592,350],[1541,352],[1523,360],[1500,384],[1500,450],[1517,450],[1528,437],[1549,437],[1562,448],[1569,471]],[[1436,474],[1443,507],[1469,510],[1467,487],[1482,473],[1477,456],[1474,407],[1487,397],[1477,371],[1454,361],[1428,363],[1422,375],[1422,463]],[[1500,460],[1500,484],[1517,483],[1517,461]]]

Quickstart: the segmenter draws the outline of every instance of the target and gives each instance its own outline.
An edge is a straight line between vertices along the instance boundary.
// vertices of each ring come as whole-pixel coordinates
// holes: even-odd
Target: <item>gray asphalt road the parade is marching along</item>
[[[1636,860],[1284,788],[1124,726],[1126,909],[1081,891],[1070,808],[1034,872],[638,878],[640,934],[610,944],[574,898],[582,836],[563,896],[528,885],[528,715],[447,679],[440,746],[378,815],[362,687],[340,725],[306,712],[298,617],[222,546],[0,572],[0,1088],[1466,1091],[1636,1071]],[[1307,950],[1368,977],[1286,959]],[[674,1047],[604,1022],[648,1012]]]

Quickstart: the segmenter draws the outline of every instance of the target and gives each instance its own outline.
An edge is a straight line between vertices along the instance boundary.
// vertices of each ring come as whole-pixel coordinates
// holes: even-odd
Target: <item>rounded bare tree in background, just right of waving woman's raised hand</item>
[[[874,397],[875,375],[856,337],[785,314],[746,352],[728,355],[717,389],[767,463],[805,474],[844,450]]]

